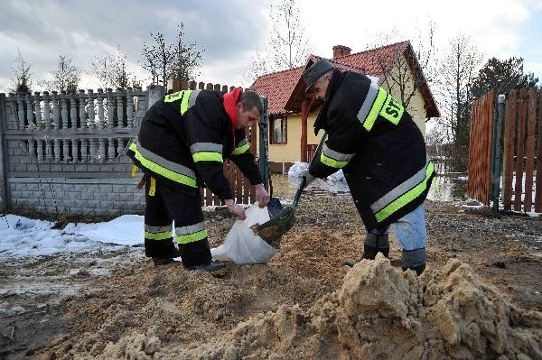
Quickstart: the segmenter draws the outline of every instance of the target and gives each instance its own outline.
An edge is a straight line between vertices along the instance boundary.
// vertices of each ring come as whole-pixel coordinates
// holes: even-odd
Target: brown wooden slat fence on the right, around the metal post
[[[513,206],[514,211],[531,212],[534,205],[535,212],[542,212],[541,93],[537,88],[509,91],[504,104],[502,139],[494,138],[494,134],[500,133],[493,131],[496,123],[493,91],[474,102],[467,186],[470,197],[489,205],[491,162],[499,162],[502,142],[502,174],[500,166],[493,166],[498,172],[492,176],[501,180],[504,210],[509,211]]]

